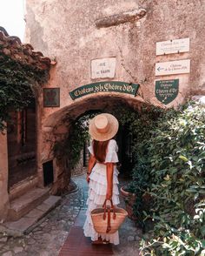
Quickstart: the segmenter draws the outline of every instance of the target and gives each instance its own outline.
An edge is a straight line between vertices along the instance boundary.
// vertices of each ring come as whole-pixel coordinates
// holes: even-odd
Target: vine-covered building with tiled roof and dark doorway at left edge
[[[0,59],[2,89],[17,91],[17,86],[23,86],[21,83],[29,86],[26,97],[30,98],[30,104],[27,107],[14,111],[6,98],[10,120],[7,129],[0,132],[0,219],[17,220],[50,197],[48,189],[37,188],[35,97],[37,91],[42,90],[41,81],[49,77],[50,58],[34,51],[30,44],[22,44],[18,37],[9,36],[0,27]],[[17,92],[22,93],[20,100],[23,101],[23,91]],[[1,109],[5,110],[7,107]],[[2,118],[1,112],[1,122]],[[19,199],[21,197],[23,199]]]

